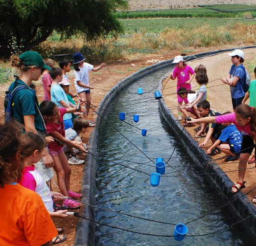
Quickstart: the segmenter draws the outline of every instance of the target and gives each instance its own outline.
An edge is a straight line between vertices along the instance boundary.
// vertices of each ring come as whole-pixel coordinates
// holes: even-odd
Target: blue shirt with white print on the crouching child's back
[[[221,133],[219,137],[220,141],[228,142],[229,144],[233,144],[240,148],[241,150],[241,144],[242,144],[242,135],[237,130],[235,125],[227,126]]]

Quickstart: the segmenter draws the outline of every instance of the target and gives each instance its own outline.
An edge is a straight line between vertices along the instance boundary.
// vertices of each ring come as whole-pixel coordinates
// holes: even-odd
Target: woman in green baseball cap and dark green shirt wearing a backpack
[[[42,56],[35,51],[26,51],[19,57],[12,56],[11,64],[12,67],[17,67],[20,70],[20,77],[16,78],[11,84],[9,92],[12,92],[13,89],[21,85],[26,87],[26,89],[17,91],[13,98],[13,117],[24,125],[24,130],[26,132],[44,134],[45,129],[39,111],[37,96],[35,91],[30,88],[30,85],[32,81],[37,81],[39,79],[45,69],[51,70],[51,68],[45,65]],[[53,139],[47,137],[47,141],[53,141]],[[44,150],[43,161],[45,164],[43,166],[52,167],[53,160],[48,154],[47,149]],[[53,176],[51,168],[47,168],[47,170],[44,170],[41,173],[46,181],[49,181]]]

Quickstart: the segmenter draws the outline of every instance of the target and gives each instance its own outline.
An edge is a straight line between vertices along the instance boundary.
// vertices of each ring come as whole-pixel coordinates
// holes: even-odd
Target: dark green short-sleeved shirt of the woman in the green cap
[[[19,90],[14,98],[13,98],[13,116],[14,118],[19,121],[21,124],[24,125],[24,116],[26,115],[34,115],[35,120],[35,128],[38,132],[44,133],[44,125],[41,119],[41,116],[36,108],[36,104],[39,108],[36,92],[30,87],[27,86],[22,80],[17,80],[17,82],[13,82],[10,87],[9,91],[12,92],[14,88],[24,85],[28,89],[21,89]]]

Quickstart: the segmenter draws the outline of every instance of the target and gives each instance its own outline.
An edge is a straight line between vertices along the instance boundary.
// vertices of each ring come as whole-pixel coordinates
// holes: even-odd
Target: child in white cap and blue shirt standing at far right
[[[221,81],[224,84],[230,86],[233,110],[242,103],[245,93],[243,89],[243,79],[245,70],[243,67],[244,52],[241,49],[234,49],[233,52],[229,53],[232,57],[231,61],[233,65],[226,78],[222,78]]]

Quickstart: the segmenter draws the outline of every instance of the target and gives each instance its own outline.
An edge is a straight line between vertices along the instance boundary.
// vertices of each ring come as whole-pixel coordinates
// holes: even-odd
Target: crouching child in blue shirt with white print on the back
[[[222,115],[228,113],[231,112],[225,112]],[[219,139],[216,140],[216,142],[207,150],[206,153],[210,154],[211,151],[219,145],[220,150],[229,155],[225,161],[237,160],[241,151],[242,135],[237,130],[236,126],[231,125],[229,122],[222,123],[221,125],[225,126],[226,128],[222,131]]]

